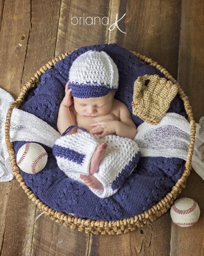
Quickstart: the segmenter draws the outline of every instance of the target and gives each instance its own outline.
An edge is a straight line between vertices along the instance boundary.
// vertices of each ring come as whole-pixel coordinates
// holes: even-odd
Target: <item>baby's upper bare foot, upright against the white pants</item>
[[[95,174],[98,171],[100,161],[104,156],[107,146],[107,143],[103,142],[100,146],[98,146],[97,150],[93,153],[89,168],[89,174]]]

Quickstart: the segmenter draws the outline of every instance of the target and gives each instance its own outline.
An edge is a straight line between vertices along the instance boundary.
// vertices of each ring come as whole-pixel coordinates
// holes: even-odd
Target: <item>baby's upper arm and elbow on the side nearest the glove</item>
[[[137,127],[135,126],[134,121],[132,121],[130,111],[124,103],[120,104],[119,118],[120,121],[116,126],[116,134],[121,137],[132,138],[133,140],[137,134]]]

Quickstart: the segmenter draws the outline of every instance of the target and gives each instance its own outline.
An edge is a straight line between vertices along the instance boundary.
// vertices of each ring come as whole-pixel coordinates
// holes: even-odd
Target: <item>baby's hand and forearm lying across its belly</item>
[[[90,130],[91,134],[101,134],[99,138],[104,138],[108,134],[115,134],[116,127],[118,126],[119,121],[101,121],[101,122],[94,122],[90,124],[94,128]]]

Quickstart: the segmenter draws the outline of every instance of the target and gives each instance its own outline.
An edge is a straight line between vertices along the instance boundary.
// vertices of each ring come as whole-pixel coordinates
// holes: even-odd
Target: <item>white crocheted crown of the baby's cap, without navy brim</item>
[[[88,50],[74,60],[69,71],[69,82],[95,86],[104,84],[110,89],[118,88],[118,68],[104,51]],[[96,84],[94,84],[96,83]]]

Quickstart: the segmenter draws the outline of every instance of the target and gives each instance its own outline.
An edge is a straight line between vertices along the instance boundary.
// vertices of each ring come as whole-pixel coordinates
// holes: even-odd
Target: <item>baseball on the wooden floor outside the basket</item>
[[[176,200],[170,210],[173,223],[178,226],[192,226],[200,216],[200,208],[191,198],[180,198]]]

